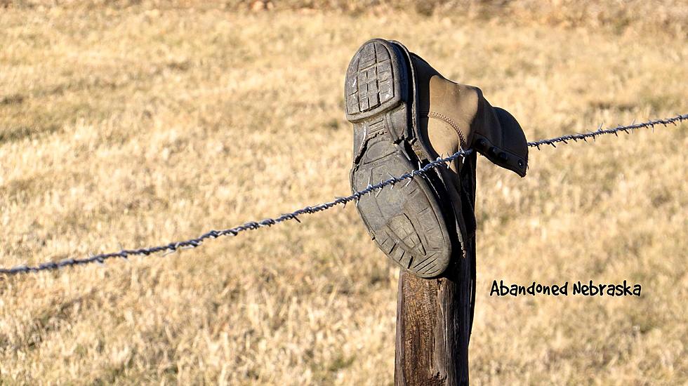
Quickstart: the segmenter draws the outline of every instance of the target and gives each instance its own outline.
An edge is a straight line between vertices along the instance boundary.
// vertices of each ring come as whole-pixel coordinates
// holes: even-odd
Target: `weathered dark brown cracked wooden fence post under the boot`
[[[462,166],[463,199],[475,208],[475,154]],[[467,208],[466,202],[463,207]],[[467,211],[464,209],[464,213]],[[466,215],[466,214],[465,214]],[[471,219],[465,219],[474,221]],[[440,279],[402,271],[397,293],[395,385],[468,385],[468,340],[475,291],[475,237],[467,257],[454,248],[456,264]]]

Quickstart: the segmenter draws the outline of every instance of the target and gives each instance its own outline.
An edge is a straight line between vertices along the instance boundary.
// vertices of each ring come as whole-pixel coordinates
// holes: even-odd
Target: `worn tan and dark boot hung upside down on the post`
[[[478,88],[448,81],[397,41],[373,39],[359,48],[347,69],[345,102],[354,126],[353,190],[458,149],[526,173],[527,142],[517,121]],[[462,200],[461,164],[458,159],[358,203],[382,251],[419,277],[441,275],[475,232],[473,209]]]

